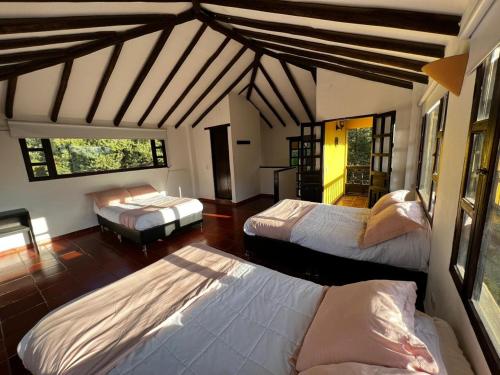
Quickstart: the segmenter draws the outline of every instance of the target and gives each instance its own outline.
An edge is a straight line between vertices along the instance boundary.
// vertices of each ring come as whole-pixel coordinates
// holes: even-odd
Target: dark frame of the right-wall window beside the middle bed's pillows
[[[436,127],[436,133],[433,135],[436,138],[436,145],[434,146],[434,152],[432,153],[432,182],[431,189],[429,195],[429,202],[426,202],[420,192],[420,180],[422,177],[422,167],[423,167],[423,159],[424,159],[424,147],[425,147],[425,136],[427,132],[427,119],[428,114],[426,113],[422,117],[422,127],[420,129],[420,147],[418,153],[418,165],[417,165],[417,183],[416,183],[416,192],[420,202],[422,203],[422,207],[424,208],[425,215],[429,220],[429,223],[432,226],[433,218],[434,218],[434,209],[436,208],[435,202],[437,199],[437,187],[439,183],[439,162],[441,161],[441,154],[443,150],[443,140],[444,140],[444,132],[446,128],[446,115],[448,113],[448,97],[449,93],[446,93],[441,99],[439,99],[439,109],[438,109],[438,124]],[[432,199],[432,194],[434,193],[436,199]]]

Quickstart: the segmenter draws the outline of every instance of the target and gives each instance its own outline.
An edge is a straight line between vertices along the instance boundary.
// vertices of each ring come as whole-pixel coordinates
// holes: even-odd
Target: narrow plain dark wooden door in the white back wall
[[[210,128],[210,144],[212,147],[215,197],[218,199],[232,199],[227,125]]]

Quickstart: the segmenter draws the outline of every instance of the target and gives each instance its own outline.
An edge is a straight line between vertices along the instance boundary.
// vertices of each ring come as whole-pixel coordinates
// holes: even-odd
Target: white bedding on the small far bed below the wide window
[[[127,210],[138,208],[138,205],[155,205],[161,202],[175,199],[175,197],[165,196],[158,193],[148,198],[136,198],[128,203],[115,203],[111,206],[99,208],[94,204],[94,212],[103,218],[120,224],[120,214]],[[171,223],[180,220],[181,225],[187,225],[202,218],[203,204],[198,199],[190,199],[187,202],[176,205],[175,207],[163,208],[155,212],[150,212],[140,216],[135,224],[136,230],[145,230],[158,225]]]

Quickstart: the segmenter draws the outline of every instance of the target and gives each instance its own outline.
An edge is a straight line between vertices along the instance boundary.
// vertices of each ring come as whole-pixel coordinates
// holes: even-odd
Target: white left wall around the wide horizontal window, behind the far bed
[[[173,132],[171,132],[173,133]],[[169,134],[170,135],[170,134]],[[92,202],[85,195],[115,186],[151,184],[171,195],[192,196],[189,159],[183,132],[167,139],[171,168],[147,169],[60,180],[29,182],[19,141],[0,131],[0,211],[27,208],[40,240],[97,225]],[[0,240],[0,250],[24,245],[22,236]]]

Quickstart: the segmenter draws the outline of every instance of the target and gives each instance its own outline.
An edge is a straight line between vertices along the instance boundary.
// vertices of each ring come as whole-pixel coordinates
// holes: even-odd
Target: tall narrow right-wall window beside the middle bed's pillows
[[[422,120],[418,158],[417,193],[432,222],[439,179],[439,157],[443,144],[448,95],[434,104]]]

